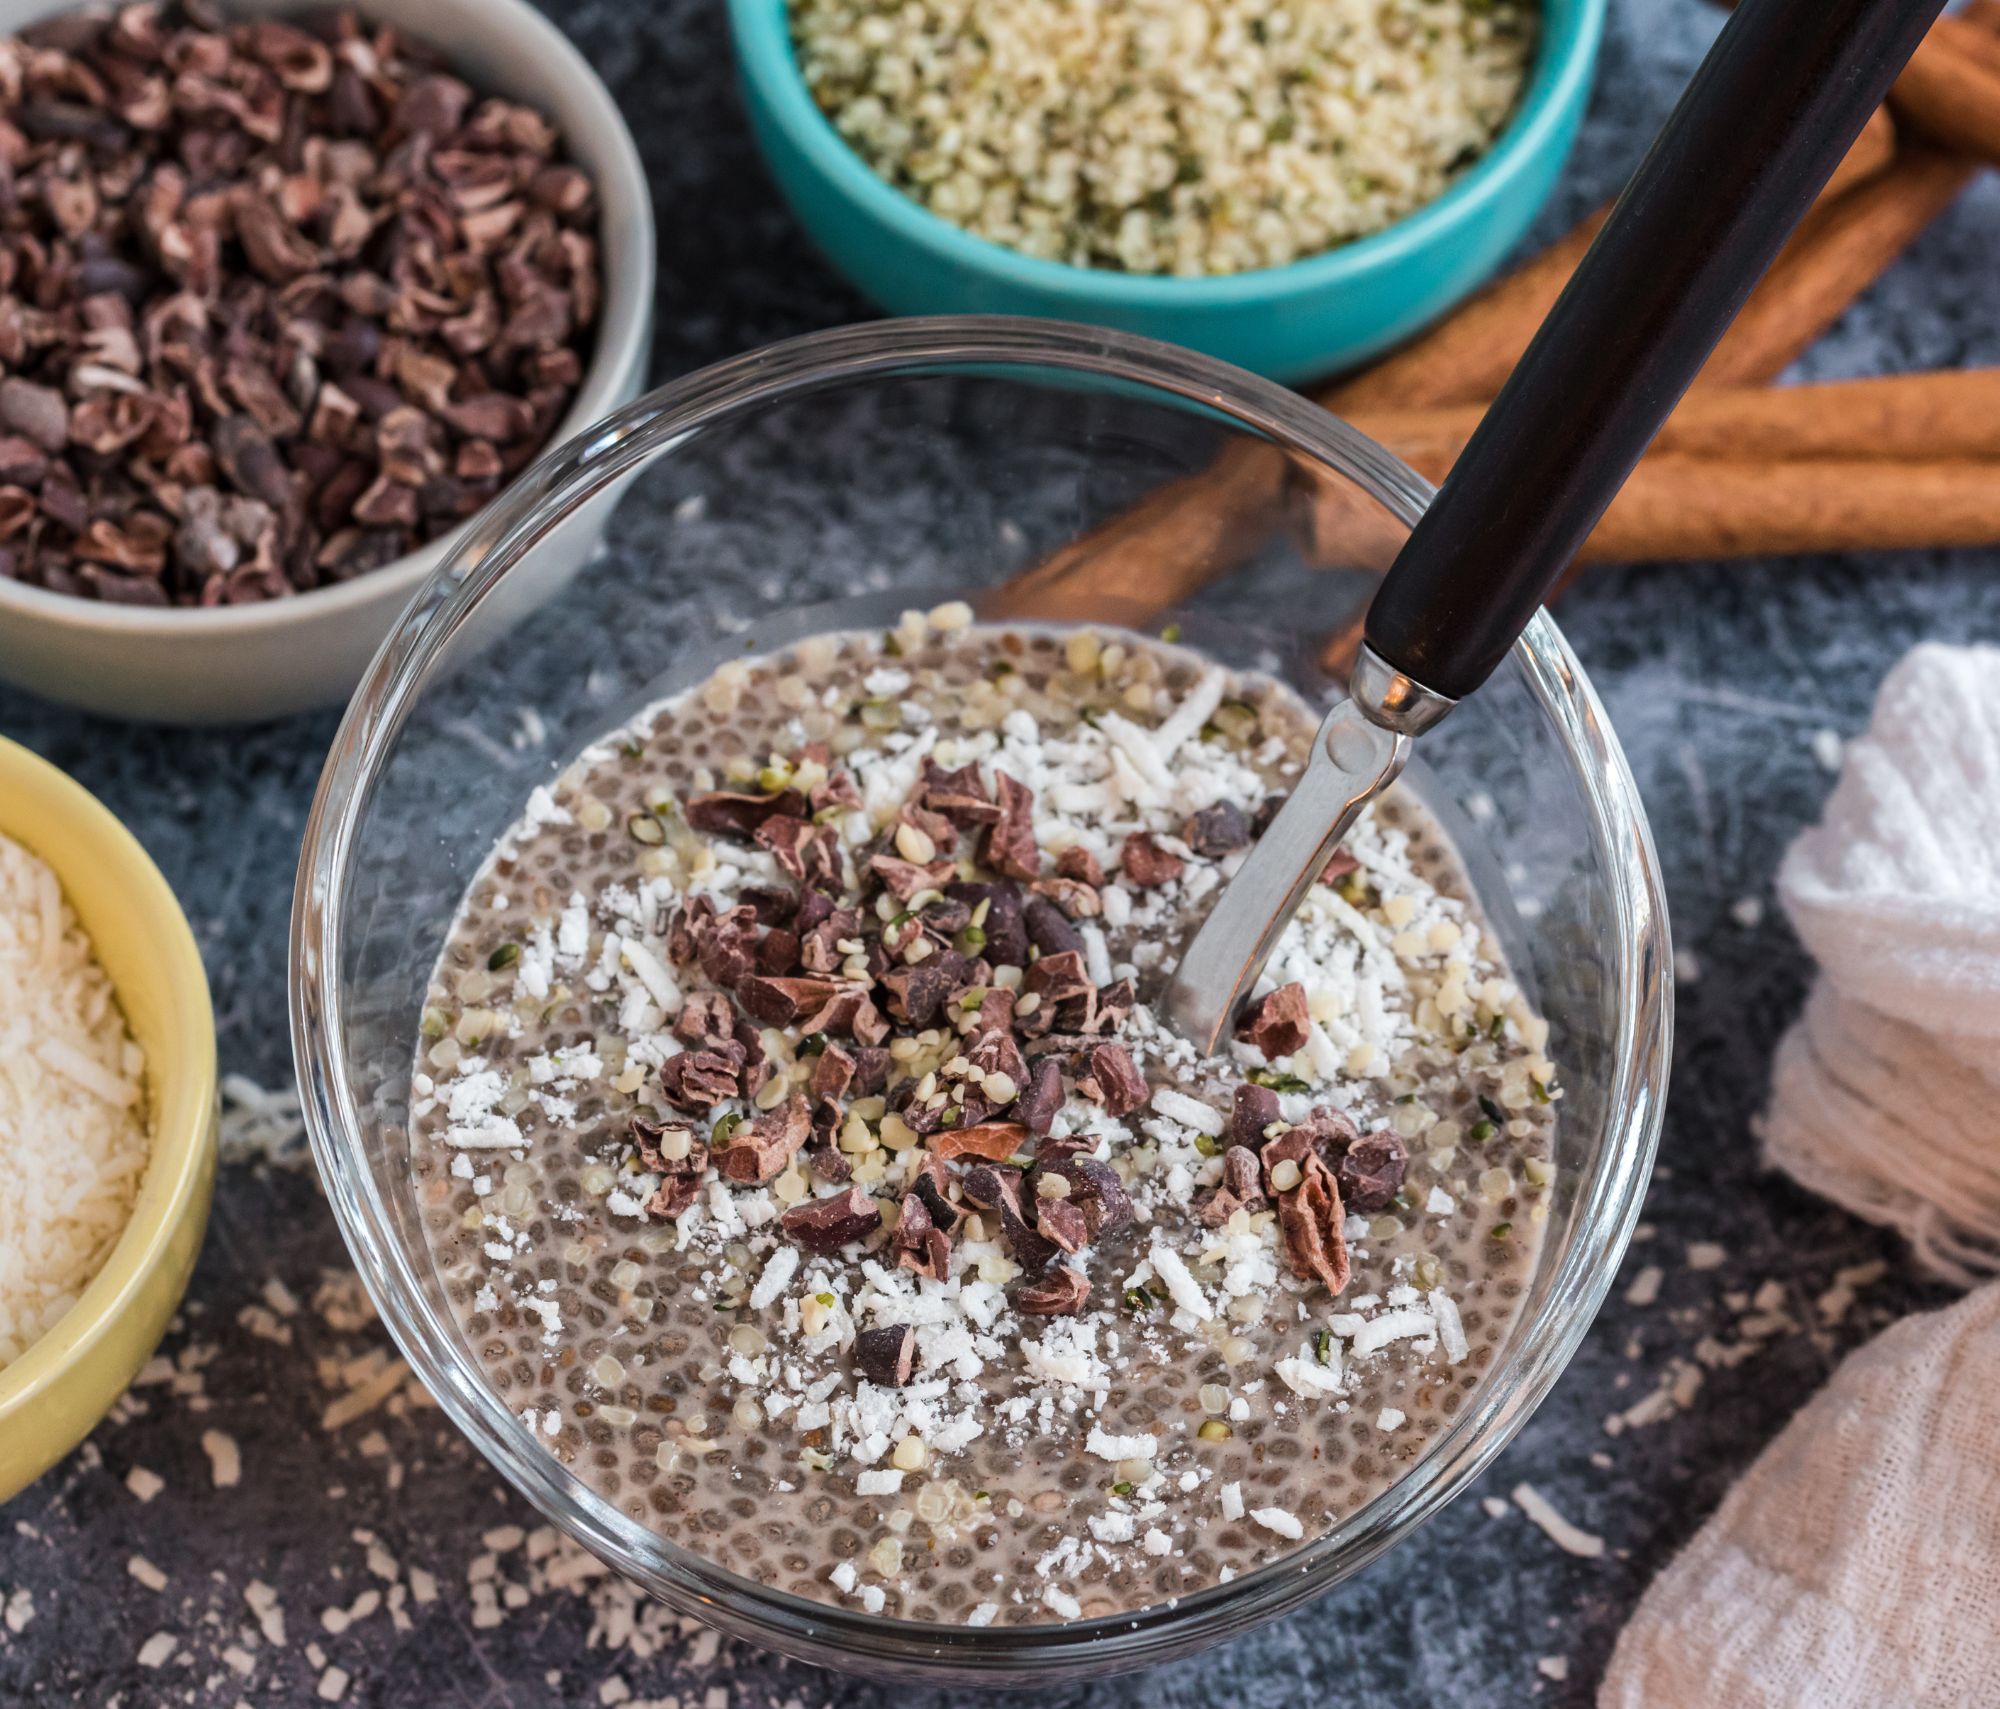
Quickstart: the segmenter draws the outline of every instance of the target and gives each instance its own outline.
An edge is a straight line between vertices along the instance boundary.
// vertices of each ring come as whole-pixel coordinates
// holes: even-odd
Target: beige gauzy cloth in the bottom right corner
[[[1850,1355],[1618,1639],[1598,1709],[2000,1703],[2000,1283]]]

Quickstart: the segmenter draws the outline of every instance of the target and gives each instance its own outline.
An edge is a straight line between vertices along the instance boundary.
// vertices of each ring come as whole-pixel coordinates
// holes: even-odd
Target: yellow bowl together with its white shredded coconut
[[[0,738],[0,1501],[146,1361],[208,1225],[216,1045],[160,871]]]

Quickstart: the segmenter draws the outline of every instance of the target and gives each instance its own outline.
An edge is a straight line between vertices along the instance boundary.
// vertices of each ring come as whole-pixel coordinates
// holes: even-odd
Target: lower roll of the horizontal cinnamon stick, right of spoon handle
[[[1586,562],[1984,546],[2000,540],[2000,466],[1648,456],[1604,512]]]

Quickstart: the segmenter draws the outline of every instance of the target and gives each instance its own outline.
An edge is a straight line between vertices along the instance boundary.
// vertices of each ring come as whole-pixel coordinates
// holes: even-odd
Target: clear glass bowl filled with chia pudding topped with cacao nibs
[[[1060,574],[1272,436],[1354,500],[1348,574]],[[604,554],[482,646],[604,492]],[[290,1001],[356,1269],[552,1525],[808,1661],[1074,1679],[1296,1607],[1524,1423],[1670,1035],[1554,624],[1214,1055],[1158,1007],[1426,496],[1186,350],[886,320],[664,386],[476,524],[334,738]]]

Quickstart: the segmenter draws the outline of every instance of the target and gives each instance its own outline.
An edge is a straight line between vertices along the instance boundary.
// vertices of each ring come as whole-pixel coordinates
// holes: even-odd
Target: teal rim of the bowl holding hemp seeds
[[[1492,148],[1430,202],[1378,232],[1280,266],[1230,274],[1134,274],[1022,254],[976,236],[898,190],[820,112],[784,26],[788,0],[726,0],[736,62],[756,106],[806,154],[822,178],[876,226],[938,260],[1006,286],[1096,308],[1226,310],[1318,294],[1394,268],[1452,234],[1554,148],[1572,110],[1588,98],[1608,0],[1542,0],[1534,66]]]

